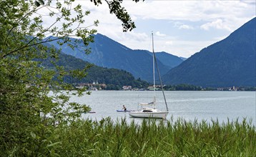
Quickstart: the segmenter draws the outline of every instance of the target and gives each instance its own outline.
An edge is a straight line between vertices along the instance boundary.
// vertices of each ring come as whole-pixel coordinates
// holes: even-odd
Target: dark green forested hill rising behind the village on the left
[[[41,66],[46,69],[54,69],[54,65],[51,64],[52,59],[41,60]],[[67,54],[59,54],[59,60],[56,61],[57,66],[63,66],[66,70],[84,69],[84,66],[89,62],[77,59],[74,56]],[[107,89],[121,89],[122,86],[132,86],[137,88],[147,88],[149,83],[140,79],[135,79],[132,74],[127,71],[119,69],[107,69],[100,66],[92,65],[87,70],[87,76],[78,80],[70,76],[64,77],[64,81],[68,83],[92,83],[97,81],[99,83],[106,83]],[[109,88],[111,87],[111,88]]]

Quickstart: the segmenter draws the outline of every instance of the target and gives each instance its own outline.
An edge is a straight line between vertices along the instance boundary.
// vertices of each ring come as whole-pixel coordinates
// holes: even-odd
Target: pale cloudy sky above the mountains
[[[145,0],[135,3],[124,0],[136,28],[122,31],[122,22],[109,14],[105,1],[99,6],[89,0],[77,0],[82,8],[91,11],[84,26],[99,20],[97,32],[129,47],[152,51],[165,51],[175,56],[188,58],[217,41],[225,39],[233,31],[256,15],[255,0],[183,1]]]

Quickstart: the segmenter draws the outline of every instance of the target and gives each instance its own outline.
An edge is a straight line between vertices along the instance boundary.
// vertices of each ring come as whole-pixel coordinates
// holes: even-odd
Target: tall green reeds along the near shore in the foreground
[[[255,156],[255,126],[241,122],[125,119],[79,121],[54,130],[59,156]],[[52,151],[53,149],[51,149]]]

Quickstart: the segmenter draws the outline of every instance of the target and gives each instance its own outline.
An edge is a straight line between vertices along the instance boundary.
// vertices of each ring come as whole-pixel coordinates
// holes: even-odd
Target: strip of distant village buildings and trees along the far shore
[[[102,91],[107,89],[106,83],[99,83],[98,81],[93,81],[92,83],[78,83],[76,88],[84,88],[86,87],[88,91]],[[147,88],[133,88],[132,86],[122,86],[122,91],[154,91],[154,86],[148,86]],[[161,90],[160,85],[155,86],[155,90]],[[197,90],[193,89],[176,89],[176,90],[169,90],[164,88],[167,91],[255,91],[255,87],[223,87],[223,88],[197,88]]]

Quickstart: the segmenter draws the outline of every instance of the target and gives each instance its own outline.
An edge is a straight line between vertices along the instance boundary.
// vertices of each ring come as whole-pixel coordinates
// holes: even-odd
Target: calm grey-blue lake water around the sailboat
[[[165,110],[162,91],[157,93],[157,108]],[[167,120],[183,118],[186,121],[220,122],[230,120],[242,121],[243,118],[256,121],[255,91],[164,91],[169,108]],[[142,121],[142,118],[132,118],[129,113],[119,113],[125,105],[128,110],[137,110],[138,103],[152,101],[154,91],[92,91],[91,95],[72,96],[71,101],[85,103],[96,113],[87,113],[83,118],[101,120],[110,117],[113,120],[126,118],[127,121]]]

